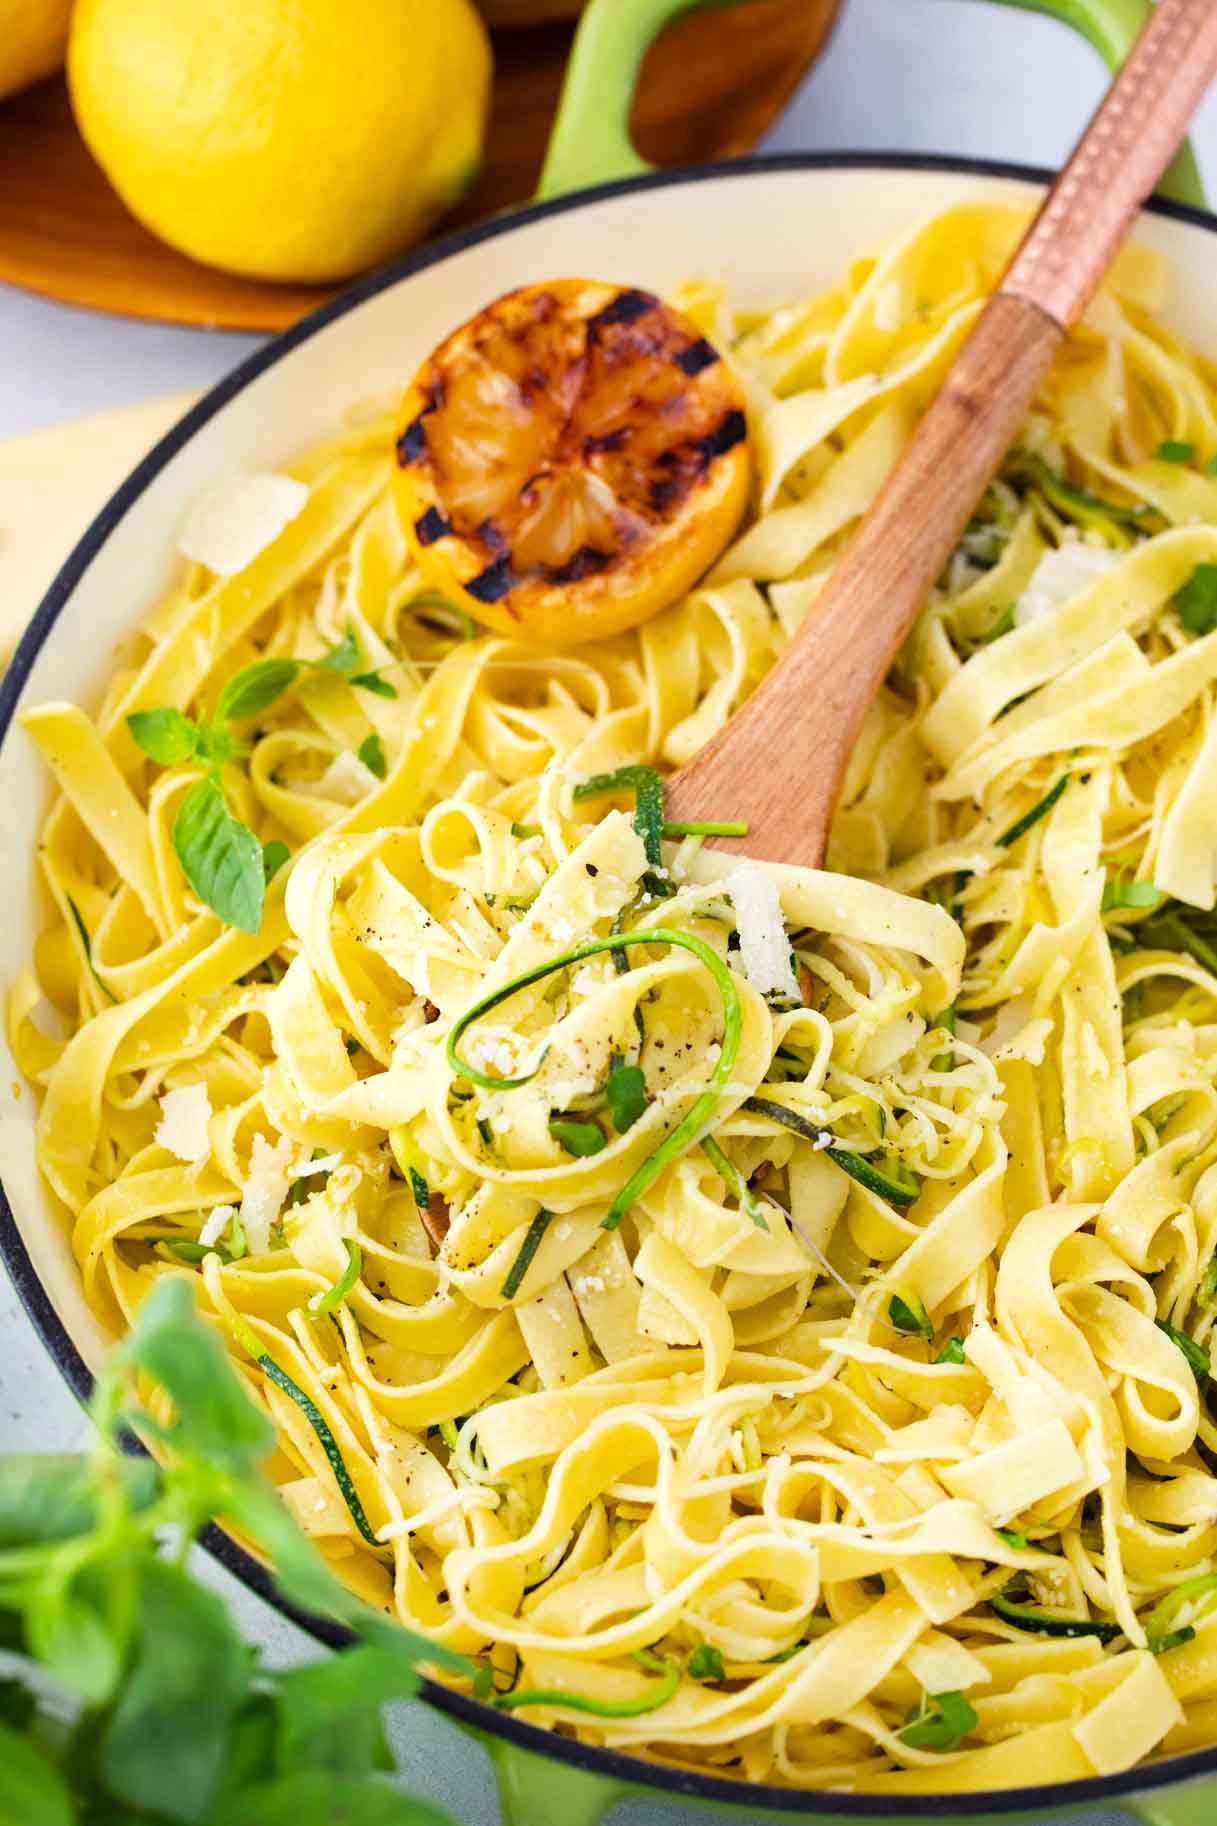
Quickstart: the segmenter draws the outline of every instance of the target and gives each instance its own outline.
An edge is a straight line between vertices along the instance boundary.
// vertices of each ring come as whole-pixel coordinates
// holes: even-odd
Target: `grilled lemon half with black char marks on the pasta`
[[[689,318],[651,292],[552,279],[424,362],[395,486],[435,588],[490,628],[570,646],[693,588],[749,473],[744,398]]]

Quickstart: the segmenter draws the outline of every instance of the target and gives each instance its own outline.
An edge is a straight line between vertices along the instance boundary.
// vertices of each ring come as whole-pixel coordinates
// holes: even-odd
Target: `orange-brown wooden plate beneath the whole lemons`
[[[747,152],[802,80],[837,5],[753,0],[672,26],[643,69],[640,152],[661,164]],[[563,24],[495,35],[486,164],[444,226],[532,195],[568,46]],[[62,77],[0,104],[0,279],[95,310],[241,331],[283,329],[331,290],[238,279],[157,241],[86,152]]]

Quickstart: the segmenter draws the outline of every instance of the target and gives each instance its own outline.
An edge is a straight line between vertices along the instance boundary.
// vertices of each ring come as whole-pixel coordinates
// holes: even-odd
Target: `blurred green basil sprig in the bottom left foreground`
[[[155,1422],[144,1379],[168,1402]],[[451,1826],[386,1780],[382,1707],[418,1689],[420,1667],[479,1669],[369,1609],[298,1530],[259,1468],[274,1428],[186,1280],[152,1287],[91,1411],[91,1453],[0,1459],[0,1821]],[[163,1468],[122,1453],[124,1426],[163,1441]],[[356,1645],[259,1667],[185,1556],[161,1556],[166,1530],[188,1543],[216,1514]]]

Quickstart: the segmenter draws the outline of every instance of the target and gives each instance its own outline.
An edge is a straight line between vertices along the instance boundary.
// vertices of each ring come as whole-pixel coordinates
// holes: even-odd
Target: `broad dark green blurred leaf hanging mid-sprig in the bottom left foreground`
[[[135,1660],[97,1746],[106,1788],[170,1821],[203,1821],[249,1682],[225,1601],[181,1567],[148,1561]]]

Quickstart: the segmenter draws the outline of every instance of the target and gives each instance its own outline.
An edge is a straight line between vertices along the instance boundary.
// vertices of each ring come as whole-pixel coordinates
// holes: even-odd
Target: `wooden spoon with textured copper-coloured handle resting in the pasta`
[[[669,818],[746,818],[749,856],[824,860],[862,718],[1215,75],[1217,0],[1159,0],[788,652],[667,783]]]

